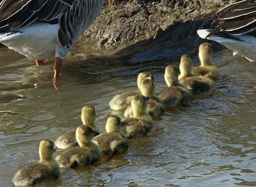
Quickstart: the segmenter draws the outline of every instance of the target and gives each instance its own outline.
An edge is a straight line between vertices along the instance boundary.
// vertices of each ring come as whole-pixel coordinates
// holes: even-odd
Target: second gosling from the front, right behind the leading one
[[[193,95],[206,95],[213,92],[213,81],[202,76],[192,74],[193,65],[191,58],[186,54],[180,60],[179,81],[185,84]]]

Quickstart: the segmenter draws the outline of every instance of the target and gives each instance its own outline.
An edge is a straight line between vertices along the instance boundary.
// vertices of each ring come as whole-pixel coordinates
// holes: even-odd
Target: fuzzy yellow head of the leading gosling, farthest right
[[[198,56],[202,66],[212,65],[212,47],[210,43],[202,43],[199,46]]]

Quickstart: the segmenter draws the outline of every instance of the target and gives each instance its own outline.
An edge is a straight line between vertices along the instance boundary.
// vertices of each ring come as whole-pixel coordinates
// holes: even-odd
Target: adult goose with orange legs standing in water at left
[[[54,80],[77,37],[99,15],[105,0],[3,0],[0,43],[36,63],[55,56]]]

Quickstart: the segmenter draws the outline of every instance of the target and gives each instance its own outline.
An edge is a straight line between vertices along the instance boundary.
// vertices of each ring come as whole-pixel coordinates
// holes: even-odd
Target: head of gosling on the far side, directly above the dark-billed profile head
[[[85,105],[81,110],[81,120],[84,125],[94,127],[96,118],[95,108],[90,105]]]

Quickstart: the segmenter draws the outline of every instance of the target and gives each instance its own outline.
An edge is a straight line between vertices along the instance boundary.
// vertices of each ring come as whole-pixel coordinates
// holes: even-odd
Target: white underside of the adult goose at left
[[[59,24],[34,23],[11,35],[0,34],[0,43],[30,59],[44,60],[55,56],[58,29]]]

